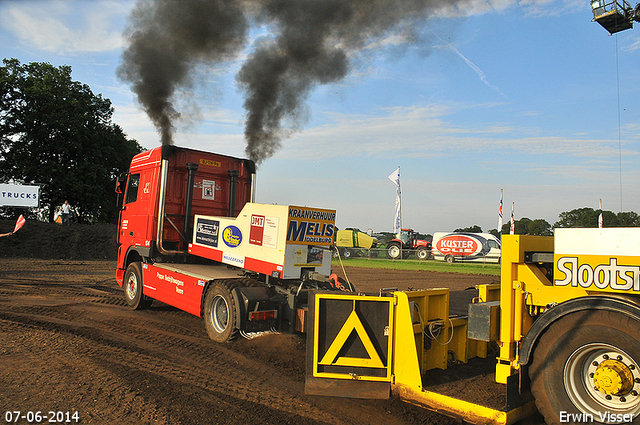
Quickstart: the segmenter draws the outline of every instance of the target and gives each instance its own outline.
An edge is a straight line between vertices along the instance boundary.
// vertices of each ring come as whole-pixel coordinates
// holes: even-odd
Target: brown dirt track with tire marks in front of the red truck
[[[85,284],[91,279],[83,278],[79,270],[71,271],[67,282],[44,280],[52,279],[51,275],[58,279],[56,273],[41,273],[38,279],[12,279],[12,284],[3,278],[0,286],[11,298],[0,300],[0,341],[10,336],[28,342],[31,335],[46,335],[29,345],[39,357],[25,354],[31,354],[36,368],[60,365],[75,371],[71,376],[78,382],[65,375],[59,375],[55,382],[66,379],[67,390],[81,385],[73,391],[72,400],[90,410],[83,423],[456,423],[397,400],[306,396],[304,347],[289,351],[289,347],[280,349],[277,345],[278,338],[290,336],[214,344],[206,338],[203,323],[196,316],[159,302],[144,312],[131,312],[120,307],[124,306],[122,289],[113,279]],[[49,299],[43,301],[43,297]],[[41,306],[38,302],[58,305]],[[20,310],[29,304],[31,310]],[[270,346],[273,343],[276,346]],[[22,361],[25,356],[11,353],[18,349],[0,344],[0,361]],[[8,369],[4,373],[9,373]],[[25,382],[31,382],[27,378],[32,376],[30,371],[24,375]],[[0,384],[4,376],[11,375],[3,375],[0,368]],[[10,385],[6,387],[11,390]],[[33,383],[31,388],[32,394],[39,391],[37,386],[33,389]],[[0,388],[0,394],[2,391],[6,390]],[[45,402],[52,400],[49,393],[35,395]],[[20,393],[16,397],[25,400]],[[193,398],[203,401],[192,408]],[[98,411],[96,405],[101,406]],[[234,415],[229,408],[236,405],[250,411],[251,416]],[[209,410],[215,414],[210,415]]]

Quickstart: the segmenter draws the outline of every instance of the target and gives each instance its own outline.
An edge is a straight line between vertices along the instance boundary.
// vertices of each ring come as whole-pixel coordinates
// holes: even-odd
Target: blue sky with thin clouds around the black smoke
[[[0,0],[0,50],[70,65],[153,148],[159,136],[115,72],[134,4]],[[551,224],[599,199],[640,212],[640,24],[610,36],[587,0],[473,0],[459,15],[430,20],[415,45],[389,35],[344,80],[316,87],[301,131],[259,167],[256,200],[333,208],[338,227],[391,231],[388,176],[400,166],[403,226],[423,233],[496,228],[501,189],[505,222],[512,203],[516,219]],[[244,156],[235,75],[251,48],[199,68],[176,145]]]

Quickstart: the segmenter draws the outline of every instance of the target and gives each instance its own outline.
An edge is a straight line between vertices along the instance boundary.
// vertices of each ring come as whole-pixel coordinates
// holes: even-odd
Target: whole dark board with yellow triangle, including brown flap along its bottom
[[[335,292],[311,296],[306,394],[390,397],[393,302]]]

